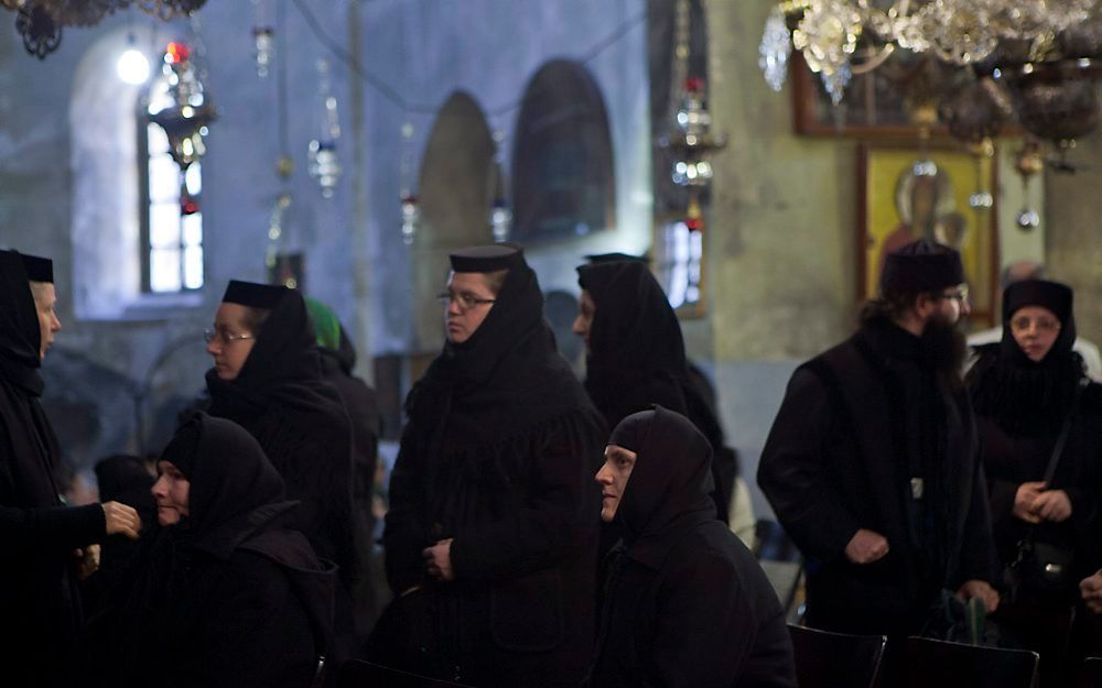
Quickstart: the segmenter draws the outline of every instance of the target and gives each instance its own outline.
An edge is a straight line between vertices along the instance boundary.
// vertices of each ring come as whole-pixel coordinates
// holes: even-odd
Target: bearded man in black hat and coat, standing
[[[889,254],[857,332],[792,374],[758,482],[807,558],[809,625],[922,630],[939,592],[998,603],[986,488],[960,380],[960,254]]]

